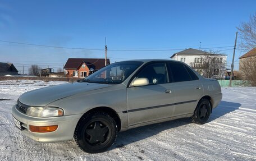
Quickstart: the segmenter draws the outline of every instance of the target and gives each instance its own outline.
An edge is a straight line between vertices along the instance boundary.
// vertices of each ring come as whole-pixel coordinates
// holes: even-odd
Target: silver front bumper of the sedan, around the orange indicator
[[[16,108],[16,105],[13,105],[12,107],[12,115],[18,121],[20,121],[22,133],[30,137],[31,139],[39,142],[58,142],[72,140],[74,137],[77,122],[79,121],[81,116],[83,116],[83,114],[74,114],[61,117],[37,118],[21,113]],[[58,125],[58,128],[56,131],[53,132],[38,133],[29,131],[29,125]]]

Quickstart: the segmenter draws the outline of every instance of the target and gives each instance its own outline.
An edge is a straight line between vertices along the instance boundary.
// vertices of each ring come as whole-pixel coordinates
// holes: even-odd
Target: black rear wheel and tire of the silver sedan
[[[208,99],[201,99],[196,106],[192,121],[200,125],[206,123],[211,115],[211,104]]]

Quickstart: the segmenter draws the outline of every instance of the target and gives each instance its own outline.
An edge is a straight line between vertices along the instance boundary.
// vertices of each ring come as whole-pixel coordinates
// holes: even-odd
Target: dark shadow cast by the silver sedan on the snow
[[[235,111],[240,106],[241,106],[240,103],[221,101],[220,105],[218,105],[218,107],[213,109],[213,112],[208,122],[214,121],[215,119],[220,118],[227,113]],[[115,144],[112,146],[111,149],[126,148],[125,145],[129,145],[132,142],[147,139],[148,137],[157,135],[159,134],[159,132],[162,132],[164,130],[188,125],[190,123],[191,123],[191,118],[181,118],[173,121],[167,121],[162,123],[156,123],[153,125],[132,128],[131,130],[118,133]]]

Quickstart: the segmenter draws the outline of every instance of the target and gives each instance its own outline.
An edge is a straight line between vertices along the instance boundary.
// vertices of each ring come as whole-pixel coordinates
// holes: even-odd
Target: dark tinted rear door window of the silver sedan
[[[186,70],[185,66],[181,63],[170,62],[168,63],[173,82],[181,82],[181,81],[191,81],[191,77],[189,75],[188,70]]]

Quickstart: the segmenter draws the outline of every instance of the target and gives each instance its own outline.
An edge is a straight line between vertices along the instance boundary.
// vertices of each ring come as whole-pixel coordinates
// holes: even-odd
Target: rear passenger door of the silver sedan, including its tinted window
[[[172,79],[173,93],[175,94],[175,109],[173,116],[194,113],[203,89],[198,77],[191,69],[179,62],[168,62]]]

